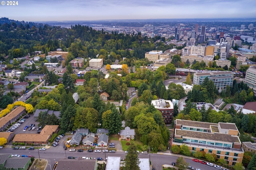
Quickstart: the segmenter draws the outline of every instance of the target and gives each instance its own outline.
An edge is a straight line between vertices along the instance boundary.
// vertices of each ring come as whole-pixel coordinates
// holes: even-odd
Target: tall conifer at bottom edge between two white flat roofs
[[[140,160],[138,158],[137,147],[134,143],[130,143],[128,153],[124,160],[124,170],[140,170]]]

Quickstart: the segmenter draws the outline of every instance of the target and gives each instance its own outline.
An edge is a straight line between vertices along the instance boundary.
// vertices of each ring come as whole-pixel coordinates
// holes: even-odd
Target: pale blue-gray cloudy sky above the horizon
[[[255,7],[256,0],[18,0],[18,6],[0,5],[0,17],[20,21],[256,18]]]

